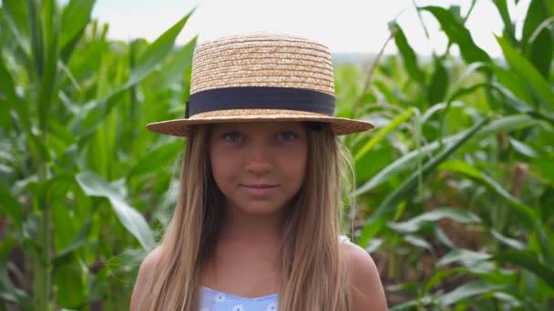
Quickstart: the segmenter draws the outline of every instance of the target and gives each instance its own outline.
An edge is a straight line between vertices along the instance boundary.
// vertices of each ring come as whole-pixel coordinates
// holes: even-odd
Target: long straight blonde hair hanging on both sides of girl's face
[[[349,273],[338,241],[347,176],[344,148],[328,126],[307,128],[304,184],[282,227],[279,310],[347,311]],[[199,308],[200,265],[215,245],[224,203],[206,156],[209,135],[209,125],[190,131],[177,205],[140,310]]]

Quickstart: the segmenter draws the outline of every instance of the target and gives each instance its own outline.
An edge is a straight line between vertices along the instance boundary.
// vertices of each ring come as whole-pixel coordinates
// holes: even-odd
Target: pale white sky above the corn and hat
[[[333,53],[377,53],[389,36],[388,23],[396,20],[418,54],[444,52],[446,35],[434,17],[423,12],[427,38],[414,3],[460,5],[466,14],[471,0],[97,0],[93,17],[110,25],[108,35],[112,38],[154,40],[194,9],[178,37],[179,44],[195,35],[203,42],[223,35],[267,31],[313,38],[328,45]],[[514,0],[508,0],[512,18],[525,15],[528,3],[520,0],[515,5]],[[477,0],[467,27],[477,45],[490,55],[500,55],[494,35],[501,35],[502,21],[492,0]],[[457,54],[456,47],[451,51]],[[393,42],[386,45],[385,53],[395,52]]]

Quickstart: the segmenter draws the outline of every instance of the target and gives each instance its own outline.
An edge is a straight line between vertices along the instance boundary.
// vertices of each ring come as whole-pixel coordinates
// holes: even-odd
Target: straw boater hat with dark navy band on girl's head
[[[187,136],[189,125],[225,122],[324,122],[335,135],[374,127],[333,113],[333,63],[327,46],[292,35],[232,35],[196,46],[185,117],[147,128]]]

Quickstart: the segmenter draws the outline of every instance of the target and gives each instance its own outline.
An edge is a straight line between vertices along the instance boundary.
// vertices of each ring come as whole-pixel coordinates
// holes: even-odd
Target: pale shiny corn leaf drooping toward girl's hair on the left
[[[111,186],[101,176],[89,171],[79,173],[76,179],[87,196],[101,196],[109,200],[119,222],[139,240],[145,250],[149,251],[154,248],[154,238],[146,220],[135,208],[127,204],[114,186]]]

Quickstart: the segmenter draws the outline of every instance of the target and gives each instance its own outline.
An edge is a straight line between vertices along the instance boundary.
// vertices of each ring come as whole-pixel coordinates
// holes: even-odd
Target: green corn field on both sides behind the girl
[[[395,310],[554,309],[554,2],[515,20],[491,1],[501,57],[466,27],[474,0],[466,15],[414,7],[444,54],[417,55],[391,21],[397,55],[335,65],[335,115],[376,125],[342,138],[357,184],[345,224]],[[194,12],[120,42],[94,0],[1,4],[0,310],[128,309],[183,150],[144,125],[184,114],[197,40],[175,40]]]

